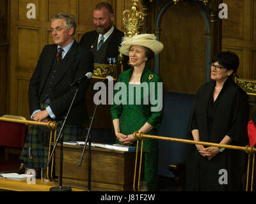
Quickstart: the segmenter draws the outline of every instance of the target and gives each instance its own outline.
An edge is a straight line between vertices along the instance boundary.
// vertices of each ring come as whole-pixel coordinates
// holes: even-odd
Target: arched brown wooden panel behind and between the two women
[[[164,91],[195,94],[206,82],[205,33],[205,20],[193,4],[180,2],[166,9],[159,39],[164,43],[159,56]]]

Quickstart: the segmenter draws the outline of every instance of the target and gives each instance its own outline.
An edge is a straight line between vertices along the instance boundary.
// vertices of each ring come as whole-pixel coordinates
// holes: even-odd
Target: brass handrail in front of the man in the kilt
[[[49,122],[36,122],[33,120],[21,120],[21,119],[11,119],[6,117],[0,117],[0,120],[7,122],[18,122],[22,124],[30,124],[36,126],[47,126],[48,129],[51,129],[50,140],[49,140],[49,150],[48,150],[48,158],[51,154],[51,140],[52,140],[52,130],[54,130],[54,142],[56,141],[56,131],[57,131],[57,122],[49,121]],[[49,178],[49,166],[47,166],[47,179],[53,180],[53,164],[54,164],[54,156],[52,156],[52,164],[51,164],[51,178]]]

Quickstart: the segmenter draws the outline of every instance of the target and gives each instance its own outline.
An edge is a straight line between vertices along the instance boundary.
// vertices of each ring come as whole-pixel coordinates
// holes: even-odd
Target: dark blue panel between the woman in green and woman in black
[[[164,92],[164,115],[159,136],[186,139],[189,115],[195,95]],[[185,143],[159,140],[158,174],[174,177],[168,170],[170,162],[182,163],[185,160]]]

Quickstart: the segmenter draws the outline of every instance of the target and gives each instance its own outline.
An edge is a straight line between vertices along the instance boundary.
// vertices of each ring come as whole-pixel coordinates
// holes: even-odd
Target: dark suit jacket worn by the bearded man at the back
[[[119,31],[118,29],[114,29],[111,36],[109,36],[108,48],[106,50],[106,56],[104,59],[104,64],[108,64],[109,57],[116,57],[119,54],[118,48],[120,47],[120,43],[122,41],[122,37],[124,37],[124,33]],[[85,33],[81,38],[80,45],[83,45],[86,50],[90,50],[94,54],[94,50],[97,49],[97,39],[99,38],[99,33],[97,31],[90,31]]]

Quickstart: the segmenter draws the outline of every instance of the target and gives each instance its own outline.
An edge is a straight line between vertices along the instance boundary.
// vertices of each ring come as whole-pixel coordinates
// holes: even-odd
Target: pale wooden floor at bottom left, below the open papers
[[[51,187],[58,187],[54,182],[35,180],[0,179],[0,191],[49,191]],[[86,189],[72,187],[72,191],[87,191]]]

